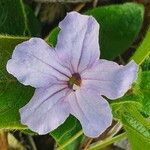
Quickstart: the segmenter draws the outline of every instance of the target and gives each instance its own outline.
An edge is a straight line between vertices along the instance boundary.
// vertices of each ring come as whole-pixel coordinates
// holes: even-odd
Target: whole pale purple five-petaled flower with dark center
[[[137,65],[99,60],[99,24],[91,16],[68,13],[59,27],[55,48],[31,38],[16,46],[7,63],[10,74],[36,88],[20,109],[21,122],[46,134],[72,114],[85,135],[97,137],[112,123],[111,109],[102,95],[123,96],[136,79]]]

